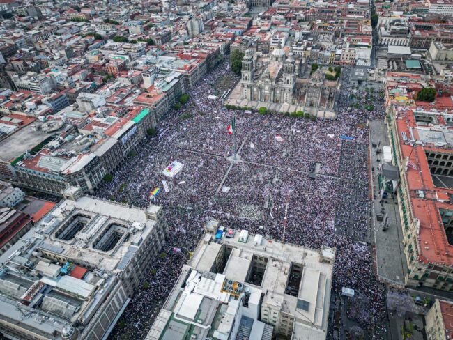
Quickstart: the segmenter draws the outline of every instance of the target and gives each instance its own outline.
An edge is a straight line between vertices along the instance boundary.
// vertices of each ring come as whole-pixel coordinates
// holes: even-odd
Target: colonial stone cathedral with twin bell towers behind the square
[[[338,82],[326,80],[323,70],[309,72],[308,66],[283,49],[275,49],[270,56],[247,50],[240,100],[335,111]]]

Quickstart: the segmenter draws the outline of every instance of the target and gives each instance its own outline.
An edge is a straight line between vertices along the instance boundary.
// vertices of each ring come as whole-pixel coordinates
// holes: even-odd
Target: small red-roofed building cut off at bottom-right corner
[[[434,302],[425,316],[427,340],[444,340],[453,337],[453,303],[444,300]]]

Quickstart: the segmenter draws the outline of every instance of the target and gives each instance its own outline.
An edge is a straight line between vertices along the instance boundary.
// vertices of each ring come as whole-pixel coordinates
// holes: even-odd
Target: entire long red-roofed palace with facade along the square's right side
[[[390,80],[391,79],[391,80]],[[387,73],[387,126],[408,286],[453,291],[453,102],[417,102],[421,77]]]

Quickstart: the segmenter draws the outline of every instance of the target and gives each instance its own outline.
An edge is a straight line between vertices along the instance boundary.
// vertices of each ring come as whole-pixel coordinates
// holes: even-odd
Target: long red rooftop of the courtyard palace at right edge
[[[416,115],[439,116],[436,111],[404,109],[399,111],[397,128],[401,156],[408,160],[406,178],[410,195],[410,207],[419,224],[418,261],[453,265],[453,246],[447,241],[440,210],[452,210],[450,195],[453,190],[433,182],[426,153],[453,155],[452,132],[443,125],[431,125],[416,121]],[[445,114],[451,116],[450,114]],[[440,123],[443,120],[437,121]],[[423,194],[421,194],[423,193]]]

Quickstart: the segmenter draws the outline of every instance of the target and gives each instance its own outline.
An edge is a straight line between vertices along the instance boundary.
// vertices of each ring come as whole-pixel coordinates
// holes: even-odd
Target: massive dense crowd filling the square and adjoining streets
[[[286,205],[284,241],[336,247],[332,288],[338,293],[346,286],[367,297],[360,324],[367,332],[384,331],[384,289],[375,279],[369,247],[356,242],[369,228],[367,121],[382,117],[383,102],[377,98],[368,111],[366,102],[353,101],[350,93],[360,98],[364,90],[348,84],[349,74],[344,69],[341,75],[335,120],[224,109],[222,100],[208,96],[219,93],[213,88],[219,79],[236,77],[227,63],[192,88],[181,110],[162,118],[157,136],[97,192],[142,208],[153,200],[164,207],[169,226],[167,247],[145,278],[149,287],[137,288],[112,339],[144,339],[209,219],[282,240]],[[240,150],[235,164],[227,158],[233,154],[227,134],[233,116]],[[174,178],[164,176],[175,160],[183,169]],[[155,188],[160,192],[151,196]]]

